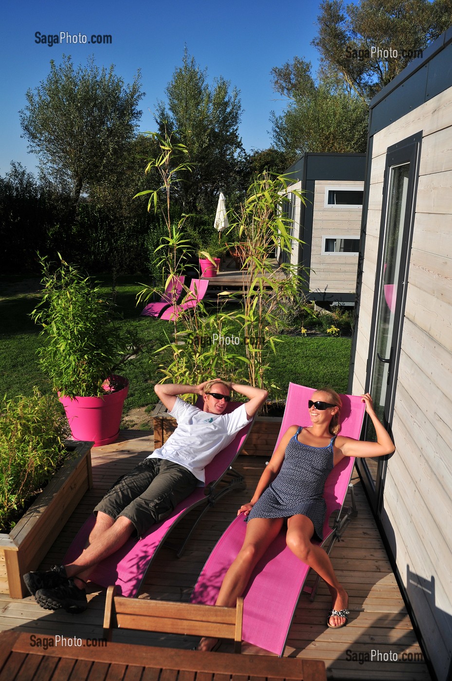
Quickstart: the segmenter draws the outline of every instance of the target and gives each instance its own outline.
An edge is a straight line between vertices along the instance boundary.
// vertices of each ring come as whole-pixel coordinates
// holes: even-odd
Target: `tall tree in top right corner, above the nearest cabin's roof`
[[[325,0],[312,41],[321,71],[364,102],[452,25],[452,0]],[[379,50],[379,51],[378,51]]]

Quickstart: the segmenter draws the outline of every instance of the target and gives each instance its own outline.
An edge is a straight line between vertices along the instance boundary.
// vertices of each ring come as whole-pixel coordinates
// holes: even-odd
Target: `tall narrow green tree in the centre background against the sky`
[[[175,69],[165,93],[167,105],[159,101],[156,121],[162,136],[172,135],[184,144],[193,163],[191,172],[180,174],[178,200],[184,212],[210,212],[218,193],[235,183],[242,140],[238,125],[242,106],[238,90],[215,78],[207,82],[207,69],[200,69],[187,48],[182,66]]]

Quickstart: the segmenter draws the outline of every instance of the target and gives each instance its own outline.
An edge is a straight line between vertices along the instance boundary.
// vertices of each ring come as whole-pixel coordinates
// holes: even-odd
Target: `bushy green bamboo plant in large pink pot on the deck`
[[[46,258],[40,261],[44,295],[31,317],[43,327],[42,368],[58,392],[74,439],[107,445],[118,437],[129,390],[129,381],[116,370],[136,351],[135,343],[120,334],[111,305],[89,277],[63,259],[54,272]]]

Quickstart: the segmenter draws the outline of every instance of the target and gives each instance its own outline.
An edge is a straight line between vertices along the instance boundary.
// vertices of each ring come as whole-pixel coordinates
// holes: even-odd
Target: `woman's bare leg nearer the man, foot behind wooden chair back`
[[[253,569],[276,539],[282,526],[282,518],[253,518],[248,521],[242,548],[225,574],[215,605],[235,607],[238,597],[242,595],[250,580]],[[199,642],[197,650],[212,650],[215,643],[216,639],[204,637]]]

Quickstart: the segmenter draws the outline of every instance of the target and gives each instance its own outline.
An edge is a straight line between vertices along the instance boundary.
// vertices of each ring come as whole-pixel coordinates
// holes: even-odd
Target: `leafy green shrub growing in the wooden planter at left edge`
[[[0,411],[0,529],[8,532],[68,453],[67,421],[52,396],[5,400]]]

